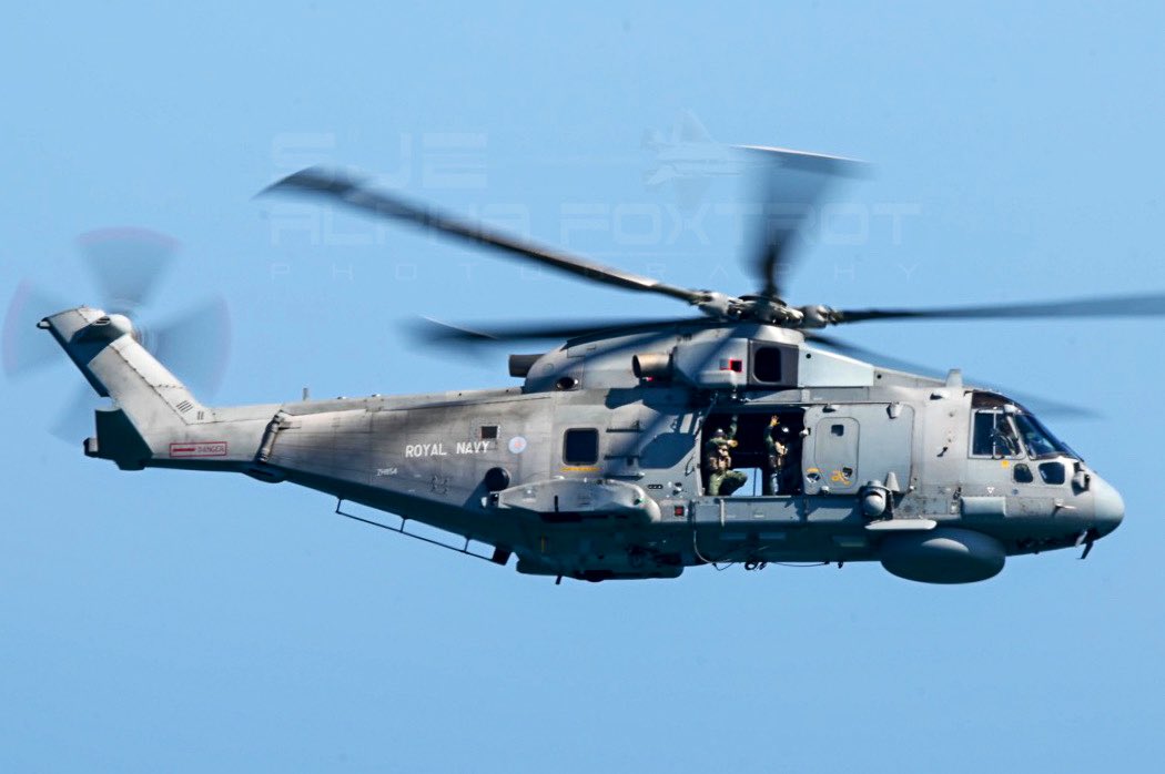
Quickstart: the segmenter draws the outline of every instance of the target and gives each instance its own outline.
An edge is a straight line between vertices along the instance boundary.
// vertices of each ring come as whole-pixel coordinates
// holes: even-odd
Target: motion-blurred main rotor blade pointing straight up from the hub
[[[762,294],[781,298],[796,240],[817,219],[817,205],[839,178],[859,177],[868,165],[853,158],[809,154],[788,148],[740,145],[762,162],[761,212],[753,271]]]

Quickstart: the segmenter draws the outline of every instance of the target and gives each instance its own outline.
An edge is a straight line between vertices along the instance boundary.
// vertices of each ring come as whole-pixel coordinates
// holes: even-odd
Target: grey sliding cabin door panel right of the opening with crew
[[[856,495],[866,482],[888,478],[905,489],[913,427],[913,409],[901,403],[810,406],[802,457],[805,493]]]

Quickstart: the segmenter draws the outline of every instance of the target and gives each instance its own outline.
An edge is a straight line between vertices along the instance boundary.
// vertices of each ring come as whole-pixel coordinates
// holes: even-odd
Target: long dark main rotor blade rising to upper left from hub
[[[594,263],[549,247],[527,242],[518,237],[493,230],[482,223],[463,220],[431,207],[412,204],[395,194],[373,191],[362,180],[350,178],[339,171],[315,166],[309,168],[271,184],[261,193],[269,192],[302,192],[322,196],[381,218],[400,220],[419,226],[421,228],[449,234],[467,242],[486,244],[508,253],[511,256],[534,261],[535,263],[552,267],[585,279],[616,287],[661,293],[679,298],[689,304],[699,303],[707,296],[704,292],[676,287],[651,277],[642,277],[629,271],[623,271],[622,269],[605,267],[600,263]]]

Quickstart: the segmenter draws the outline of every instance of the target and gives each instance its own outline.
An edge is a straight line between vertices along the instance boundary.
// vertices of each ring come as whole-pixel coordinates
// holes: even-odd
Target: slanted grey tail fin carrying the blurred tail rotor
[[[203,420],[205,406],[137,342],[125,315],[80,306],[47,317],[38,327],[52,334],[97,393],[115,404],[97,412],[97,439],[85,441],[90,456],[141,468]]]

